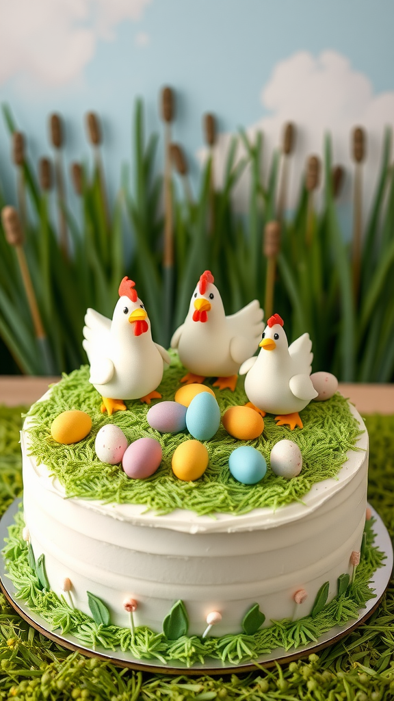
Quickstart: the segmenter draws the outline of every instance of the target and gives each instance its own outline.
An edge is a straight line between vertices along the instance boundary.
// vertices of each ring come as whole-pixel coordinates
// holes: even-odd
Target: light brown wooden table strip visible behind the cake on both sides
[[[60,377],[0,375],[0,402],[8,407],[33,404],[46,392],[48,385]],[[340,383],[339,390],[348,397],[360,414],[394,414],[394,384]]]

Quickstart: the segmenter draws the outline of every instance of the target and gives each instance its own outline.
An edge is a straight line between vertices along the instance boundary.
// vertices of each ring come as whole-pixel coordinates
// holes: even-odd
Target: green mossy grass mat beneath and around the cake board
[[[22,407],[0,407],[0,510],[20,494]],[[367,417],[369,501],[394,535],[394,416]],[[0,699],[385,701],[394,698],[394,583],[365,625],[319,655],[228,676],[168,676],[88,660],[39,635],[0,597]]]

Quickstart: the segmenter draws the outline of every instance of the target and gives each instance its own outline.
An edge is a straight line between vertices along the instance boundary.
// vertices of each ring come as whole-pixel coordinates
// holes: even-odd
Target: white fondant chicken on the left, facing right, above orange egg
[[[170,365],[165,348],[154,343],[151,325],[133,280],[123,278],[112,321],[88,309],[83,328],[83,348],[90,362],[90,382],[102,395],[101,410],[124,410],[125,399],[150,404],[160,399],[164,364]]]

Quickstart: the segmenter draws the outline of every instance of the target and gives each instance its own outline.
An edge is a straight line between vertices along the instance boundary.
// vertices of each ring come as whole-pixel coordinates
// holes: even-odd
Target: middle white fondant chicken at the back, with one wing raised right
[[[236,314],[226,316],[219,290],[209,270],[193,292],[184,324],[171,339],[182,365],[189,372],[181,382],[203,382],[217,377],[214,387],[234,390],[238,369],[259,345],[264,329],[263,310],[257,299]]]

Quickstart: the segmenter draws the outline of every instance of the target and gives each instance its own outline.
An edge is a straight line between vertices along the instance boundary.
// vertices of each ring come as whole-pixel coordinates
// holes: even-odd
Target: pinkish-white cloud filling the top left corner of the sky
[[[137,21],[150,0],[0,0],[0,84],[14,76],[46,86],[76,79],[97,41]]]

